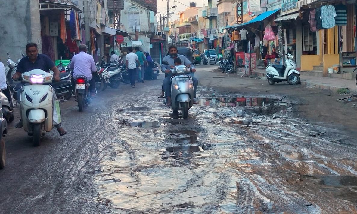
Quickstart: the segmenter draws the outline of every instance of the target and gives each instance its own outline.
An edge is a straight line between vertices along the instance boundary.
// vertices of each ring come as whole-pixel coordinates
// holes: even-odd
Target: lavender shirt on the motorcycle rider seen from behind
[[[79,52],[72,57],[71,63],[68,65],[73,70],[73,78],[77,75],[86,75],[88,80],[92,79],[92,72],[96,72],[95,62],[92,55],[89,55],[83,51]]]

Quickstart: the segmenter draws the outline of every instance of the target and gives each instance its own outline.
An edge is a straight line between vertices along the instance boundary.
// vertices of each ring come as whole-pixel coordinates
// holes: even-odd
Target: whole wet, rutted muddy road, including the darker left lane
[[[41,147],[11,129],[0,213],[356,213],[354,133],[300,118],[288,93],[207,85],[172,119],[160,88],[107,89],[83,113],[62,103],[68,134]]]

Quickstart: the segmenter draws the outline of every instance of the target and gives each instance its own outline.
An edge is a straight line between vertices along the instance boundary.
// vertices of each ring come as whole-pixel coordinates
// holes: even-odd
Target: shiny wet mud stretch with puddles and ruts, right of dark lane
[[[117,106],[96,173],[112,213],[356,212],[356,140],[294,118],[286,98],[208,96],[187,120],[147,98]]]

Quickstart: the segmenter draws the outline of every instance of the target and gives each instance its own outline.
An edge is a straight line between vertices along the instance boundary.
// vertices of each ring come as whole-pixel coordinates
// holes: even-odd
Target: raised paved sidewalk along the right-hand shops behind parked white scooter
[[[265,77],[264,69],[256,69],[258,76]],[[339,89],[348,88],[351,93],[357,93],[356,80],[355,79],[340,79],[332,77],[311,77],[300,76],[301,85],[305,85],[310,88],[318,88],[324,90],[331,90],[336,92]]]

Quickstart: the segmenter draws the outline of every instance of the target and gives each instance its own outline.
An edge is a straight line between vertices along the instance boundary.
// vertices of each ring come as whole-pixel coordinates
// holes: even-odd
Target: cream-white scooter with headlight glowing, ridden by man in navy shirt
[[[34,146],[40,146],[41,138],[53,129],[53,99],[54,89],[51,85],[52,74],[34,69],[22,74],[25,84],[21,87],[20,112],[24,130],[33,136]]]

